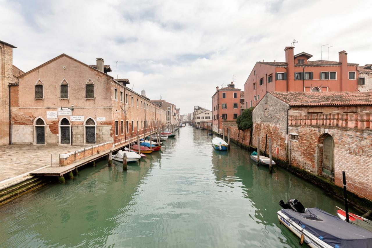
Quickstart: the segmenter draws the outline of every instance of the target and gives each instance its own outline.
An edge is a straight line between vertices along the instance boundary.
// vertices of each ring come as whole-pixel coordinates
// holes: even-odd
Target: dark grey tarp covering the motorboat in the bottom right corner
[[[282,209],[299,226],[337,248],[372,248],[372,232],[347,223],[318,208],[307,208],[305,213]]]

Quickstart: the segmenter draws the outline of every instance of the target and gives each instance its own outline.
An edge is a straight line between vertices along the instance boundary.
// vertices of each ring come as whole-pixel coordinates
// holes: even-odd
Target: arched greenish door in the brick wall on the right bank
[[[334,178],[334,140],[329,134],[323,140],[322,173]]]

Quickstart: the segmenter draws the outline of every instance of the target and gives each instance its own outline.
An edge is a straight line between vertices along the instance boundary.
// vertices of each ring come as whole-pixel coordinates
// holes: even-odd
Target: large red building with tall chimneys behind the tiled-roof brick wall
[[[245,108],[256,106],[267,91],[359,90],[358,64],[347,62],[346,51],[339,52],[339,61],[310,61],[311,54],[302,52],[294,55],[294,47],[285,47],[284,51],[284,62],[256,62],[244,84]]]

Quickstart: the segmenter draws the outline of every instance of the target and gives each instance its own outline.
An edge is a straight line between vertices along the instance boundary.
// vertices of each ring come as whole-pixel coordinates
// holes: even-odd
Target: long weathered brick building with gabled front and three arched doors
[[[165,111],[109,76],[61,54],[17,77],[11,91],[13,144],[99,144],[143,135],[165,122]]]

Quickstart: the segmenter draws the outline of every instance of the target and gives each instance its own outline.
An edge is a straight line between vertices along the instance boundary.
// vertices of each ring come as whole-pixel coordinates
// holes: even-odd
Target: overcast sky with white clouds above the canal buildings
[[[68,54],[87,64],[103,58],[111,76],[151,99],[172,102],[181,113],[211,109],[215,87],[244,83],[259,60],[372,63],[370,1],[243,0],[0,0],[0,40],[15,45],[13,64],[24,71]]]

